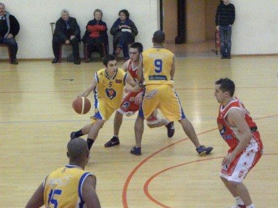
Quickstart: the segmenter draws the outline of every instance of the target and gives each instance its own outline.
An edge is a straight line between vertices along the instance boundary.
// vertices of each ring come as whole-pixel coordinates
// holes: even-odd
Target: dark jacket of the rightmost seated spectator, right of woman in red
[[[118,18],[112,28],[110,29],[110,33],[111,35],[113,35],[113,44],[117,43],[117,39],[122,35],[122,30],[119,28],[119,26],[121,25],[127,25],[131,27],[131,35],[133,37],[133,41],[136,37],[136,35],[138,35],[138,30],[134,24],[133,21],[131,21],[131,19],[127,18],[126,21],[122,22],[120,18]]]

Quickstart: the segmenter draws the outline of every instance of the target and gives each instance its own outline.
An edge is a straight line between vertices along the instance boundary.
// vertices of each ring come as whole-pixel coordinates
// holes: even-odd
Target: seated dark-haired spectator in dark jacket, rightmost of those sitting
[[[129,43],[134,42],[138,30],[131,19],[128,10],[120,10],[119,18],[114,22],[111,30],[113,35],[113,50],[117,56],[122,51],[124,60],[129,60]]]

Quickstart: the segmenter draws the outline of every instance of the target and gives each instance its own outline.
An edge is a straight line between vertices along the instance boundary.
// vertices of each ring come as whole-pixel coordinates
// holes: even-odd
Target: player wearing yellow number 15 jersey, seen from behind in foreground
[[[38,187],[26,208],[35,207],[94,207],[99,208],[99,198],[95,191],[95,175],[84,171],[88,163],[89,150],[81,138],[72,139],[67,144],[70,163],[50,173]]]

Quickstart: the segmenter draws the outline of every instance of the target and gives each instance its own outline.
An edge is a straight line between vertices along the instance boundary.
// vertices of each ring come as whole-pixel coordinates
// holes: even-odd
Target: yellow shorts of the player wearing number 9
[[[147,85],[145,87],[142,101],[144,117],[149,118],[156,108],[161,110],[170,122],[186,118],[172,85]]]

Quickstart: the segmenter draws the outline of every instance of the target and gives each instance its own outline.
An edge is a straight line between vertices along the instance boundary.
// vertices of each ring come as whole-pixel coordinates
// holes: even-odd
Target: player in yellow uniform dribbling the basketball
[[[128,83],[133,88],[131,91],[139,91],[139,85],[128,76],[122,69],[117,68],[117,60],[114,55],[104,57],[105,69],[95,73],[92,84],[79,96],[87,97],[92,91],[95,92],[95,115],[91,117],[92,123],[85,125],[81,130],[72,132],[71,139],[88,135],[88,148],[92,147],[99,130],[117,110],[122,103],[124,85]]]

